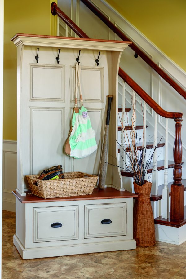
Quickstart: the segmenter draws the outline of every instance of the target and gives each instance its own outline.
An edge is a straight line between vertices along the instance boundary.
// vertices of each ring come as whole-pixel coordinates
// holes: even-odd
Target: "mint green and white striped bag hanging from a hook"
[[[75,106],[72,118],[72,128],[69,139],[65,144],[65,152],[70,157],[76,159],[84,158],[92,154],[97,149],[95,141],[95,131],[92,129],[91,121],[87,109],[83,106],[81,85],[81,67],[76,63],[76,87],[75,87]],[[77,92],[80,92],[81,109],[77,104]]]

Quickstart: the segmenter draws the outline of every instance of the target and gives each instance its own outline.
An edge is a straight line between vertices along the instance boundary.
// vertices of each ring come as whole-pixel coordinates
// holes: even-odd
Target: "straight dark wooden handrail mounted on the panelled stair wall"
[[[100,20],[102,20],[118,37],[120,37],[123,41],[130,41],[129,38],[125,36],[108,18],[95,7],[94,4],[89,0],[81,0],[83,4],[86,5]],[[182,97],[186,99],[186,92],[183,88],[181,88],[172,78],[170,78],[160,67],[157,66],[156,63],[153,62],[139,47],[137,47],[134,43],[129,45],[133,51],[135,51],[154,71],[156,71],[166,82],[170,84]]]

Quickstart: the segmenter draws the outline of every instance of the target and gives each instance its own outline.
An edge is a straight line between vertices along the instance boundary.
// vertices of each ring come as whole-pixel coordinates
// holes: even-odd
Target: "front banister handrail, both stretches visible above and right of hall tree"
[[[78,27],[55,2],[51,3],[52,15],[58,15],[76,34],[81,38],[90,38],[81,28]],[[134,91],[151,107],[155,112],[165,118],[179,118],[183,113],[168,112],[162,109],[132,78],[130,78],[120,67],[119,76],[134,89]]]

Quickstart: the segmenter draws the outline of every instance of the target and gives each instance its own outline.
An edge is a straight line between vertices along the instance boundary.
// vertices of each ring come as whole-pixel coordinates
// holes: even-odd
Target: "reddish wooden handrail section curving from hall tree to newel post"
[[[119,68],[119,76],[122,78],[153,110],[165,118],[179,118],[183,113],[169,112],[161,108],[127,73]]]

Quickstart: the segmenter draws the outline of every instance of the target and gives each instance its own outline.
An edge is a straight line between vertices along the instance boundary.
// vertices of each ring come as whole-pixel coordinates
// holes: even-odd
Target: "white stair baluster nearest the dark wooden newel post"
[[[162,197],[162,218],[169,218],[169,188],[168,186],[168,118],[166,118],[166,135],[165,135],[165,171],[164,171],[164,187]]]

